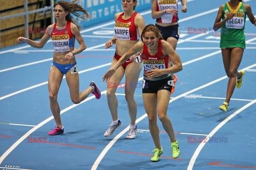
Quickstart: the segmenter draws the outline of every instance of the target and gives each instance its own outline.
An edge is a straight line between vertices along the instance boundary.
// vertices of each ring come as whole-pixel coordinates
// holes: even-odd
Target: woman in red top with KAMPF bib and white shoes
[[[145,28],[145,22],[142,16],[134,11],[136,5],[137,0],[122,0],[124,12],[115,14],[115,36],[105,45],[105,48],[109,48],[113,46],[113,44],[116,44],[116,53],[111,66],[115,65],[119,58],[138,42],[143,28]],[[138,56],[139,54],[136,55]],[[112,135],[122,124],[117,115],[118,101],[115,92],[125,74],[125,99],[127,101],[131,120],[130,129],[126,135],[126,139],[136,138],[137,126],[135,121],[137,116],[137,103],[134,100],[134,91],[137,87],[141,68],[140,56],[137,57],[137,62],[127,60],[122,67],[117,69],[115,75],[113,75],[107,82],[107,100],[112,123],[104,133],[105,137]]]

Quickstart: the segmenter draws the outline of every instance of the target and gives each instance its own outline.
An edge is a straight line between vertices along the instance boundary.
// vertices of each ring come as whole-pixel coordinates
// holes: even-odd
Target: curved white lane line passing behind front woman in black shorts
[[[248,66],[248,67],[245,67],[243,70],[251,69],[252,67],[255,67],[255,66],[256,66],[256,64],[253,64],[253,65],[250,65],[250,66]],[[187,92],[185,92],[185,93],[183,93],[183,94],[181,94],[181,95],[179,95],[179,96],[174,97],[173,99],[171,99],[171,100],[169,101],[169,104],[172,103],[172,102],[175,101],[175,100],[178,100],[178,99],[181,98],[181,97],[187,96],[187,95],[189,95],[189,94],[191,94],[191,93],[193,93],[193,92],[195,92],[195,91],[197,91],[197,90],[200,90],[200,89],[203,89],[203,88],[205,88],[205,87],[211,86],[212,84],[217,83],[217,82],[219,82],[219,81],[221,81],[221,80],[224,80],[224,79],[226,79],[226,78],[227,78],[227,76],[224,76],[224,77],[222,77],[222,78],[219,78],[219,79],[216,79],[216,80],[211,81],[211,82],[209,82],[209,83],[206,83],[206,84],[204,84],[203,86],[200,86],[200,87],[195,88],[195,89],[193,89],[193,90],[187,91]],[[143,79],[143,78],[140,78],[140,79]],[[142,115],[141,117],[139,117],[138,120],[136,121],[136,124],[137,124],[138,122],[140,122],[141,120],[143,120],[143,118],[145,118],[145,117],[147,117],[147,114],[144,114],[144,115]],[[102,160],[103,157],[107,154],[108,150],[114,145],[114,143],[115,143],[119,138],[122,137],[122,135],[123,135],[125,132],[127,132],[127,130],[129,130],[129,127],[130,127],[130,126],[127,126],[122,132],[120,132],[119,134],[117,134],[116,137],[108,143],[108,145],[107,145],[107,146],[102,150],[102,152],[100,153],[99,157],[95,160],[95,162],[94,162],[94,164],[93,164],[91,170],[97,169],[97,167],[99,166],[101,160]]]

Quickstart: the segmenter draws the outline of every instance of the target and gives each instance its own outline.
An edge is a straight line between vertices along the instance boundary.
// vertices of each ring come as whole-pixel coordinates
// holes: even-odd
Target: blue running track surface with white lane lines
[[[256,14],[256,2],[245,2]],[[137,138],[125,139],[130,118],[122,85],[116,91],[122,127],[111,137],[103,137],[111,123],[102,76],[115,53],[115,47],[105,49],[114,36],[113,16],[111,21],[81,31],[87,49],[76,55],[80,88],[95,81],[102,97],[97,100],[90,95],[74,105],[64,77],[58,95],[63,135],[47,135],[55,126],[47,90],[51,40],[42,49],[27,44],[0,49],[0,169],[256,169],[256,31],[247,19],[246,49],[239,66],[245,70],[243,86],[235,89],[224,113],[218,107],[225,100],[228,79],[220,35],[210,31],[223,3],[190,0],[188,12],[179,13],[177,52],[183,70],[177,73],[168,109],[181,150],[178,159],[172,158],[170,139],[158,120],[164,153],[159,162],[150,161],[155,148],[142,102],[142,72],[134,96]],[[146,24],[155,23],[150,9],[139,13]],[[206,28],[207,33],[188,33],[188,28]]]

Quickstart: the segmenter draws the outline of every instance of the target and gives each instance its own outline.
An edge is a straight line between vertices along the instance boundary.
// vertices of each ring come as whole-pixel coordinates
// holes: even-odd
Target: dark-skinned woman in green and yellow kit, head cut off
[[[214,30],[221,30],[220,48],[222,52],[223,64],[229,78],[226,100],[219,107],[227,112],[230,98],[235,86],[242,86],[244,70],[238,72],[245,49],[245,19],[246,15],[251,23],[256,25],[256,19],[252,13],[251,6],[244,4],[242,0],[230,0],[221,5],[217,18],[214,22]],[[222,20],[221,20],[222,19]]]

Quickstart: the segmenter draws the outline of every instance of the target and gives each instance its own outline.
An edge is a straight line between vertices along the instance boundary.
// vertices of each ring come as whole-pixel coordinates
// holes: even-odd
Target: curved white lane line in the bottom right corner
[[[245,106],[243,106],[242,108],[238,109],[235,113],[231,114],[230,116],[228,116],[227,118],[225,118],[225,120],[223,120],[220,124],[218,124],[206,137],[206,139],[209,139],[209,137],[213,137],[213,135],[223,126],[225,125],[228,121],[231,120],[231,118],[235,117],[237,114],[241,113],[242,111],[244,111],[247,107],[250,107],[251,105],[256,103],[256,99],[251,101],[250,103],[246,104]],[[199,155],[199,153],[201,152],[201,150],[203,149],[204,145],[207,143],[206,142],[202,142],[199,144],[199,146],[196,148],[196,151],[194,152],[194,155],[191,157],[190,162],[188,164],[188,168],[187,170],[192,170],[193,166],[196,162],[196,159]]]

